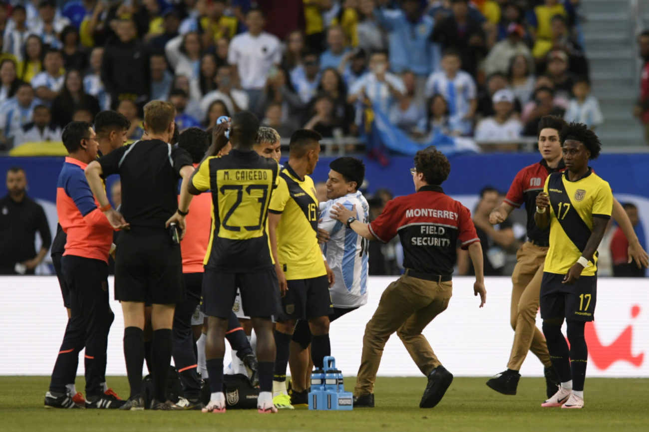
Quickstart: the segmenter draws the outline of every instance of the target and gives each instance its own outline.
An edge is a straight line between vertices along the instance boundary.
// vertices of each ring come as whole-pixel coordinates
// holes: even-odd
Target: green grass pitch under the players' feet
[[[321,412],[295,409],[262,415],[231,410],[121,412],[43,409],[49,377],[0,377],[0,431],[646,431],[649,379],[586,379],[582,410],[541,409],[542,378],[522,378],[517,396],[503,396],[487,378],[456,378],[442,402],[420,409],[424,378],[378,378],[376,407]],[[125,377],[108,379],[127,395]],[[353,387],[353,378],[345,379]],[[83,389],[83,378],[77,388]]]

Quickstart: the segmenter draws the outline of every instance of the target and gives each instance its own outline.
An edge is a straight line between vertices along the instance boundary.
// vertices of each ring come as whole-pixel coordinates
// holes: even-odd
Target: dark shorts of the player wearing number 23
[[[257,273],[223,273],[205,269],[201,311],[208,317],[228,318],[237,294],[251,318],[276,317],[280,311],[280,289],[275,269]]]

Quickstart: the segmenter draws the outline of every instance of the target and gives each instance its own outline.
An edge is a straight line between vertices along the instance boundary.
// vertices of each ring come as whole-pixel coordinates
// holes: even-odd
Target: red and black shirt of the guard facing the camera
[[[536,222],[534,222],[536,196],[539,195],[539,192],[543,191],[545,179],[550,175],[550,173],[556,173],[563,171],[564,169],[565,165],[563,165],[563,159],[559,161],[559,165],[556,169],[548,167],[548,163],[543,159],[539,163],[521,169],[519,173],[516,174],[514,181],[511,182],[511,186],[509,186],[505,202],[515,208],[520,208],[522,204],[525,204],[525,210],[528,214],[527,234],[528,237],[530,237],[530,240],[537,243],[547,243],[549,241],[550,226],[541,229],[537,226]]]

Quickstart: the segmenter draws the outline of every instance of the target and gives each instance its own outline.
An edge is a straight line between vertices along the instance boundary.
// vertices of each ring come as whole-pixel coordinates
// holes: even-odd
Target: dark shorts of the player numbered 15
[[[282,297],[282,313],[278,321],[308,320],[326,317],[334,312],[326,274],[317,278],[289,280]]]

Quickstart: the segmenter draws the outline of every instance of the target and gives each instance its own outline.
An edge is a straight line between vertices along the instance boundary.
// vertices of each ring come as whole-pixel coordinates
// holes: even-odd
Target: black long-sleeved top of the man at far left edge
[[[16,263],[36,258],[36,232],[40,234],[43,248],[49,248],[49,232],[45,211],[29,197],[21,202],[9,195],[0,199],[0,274],[16,274]]]

